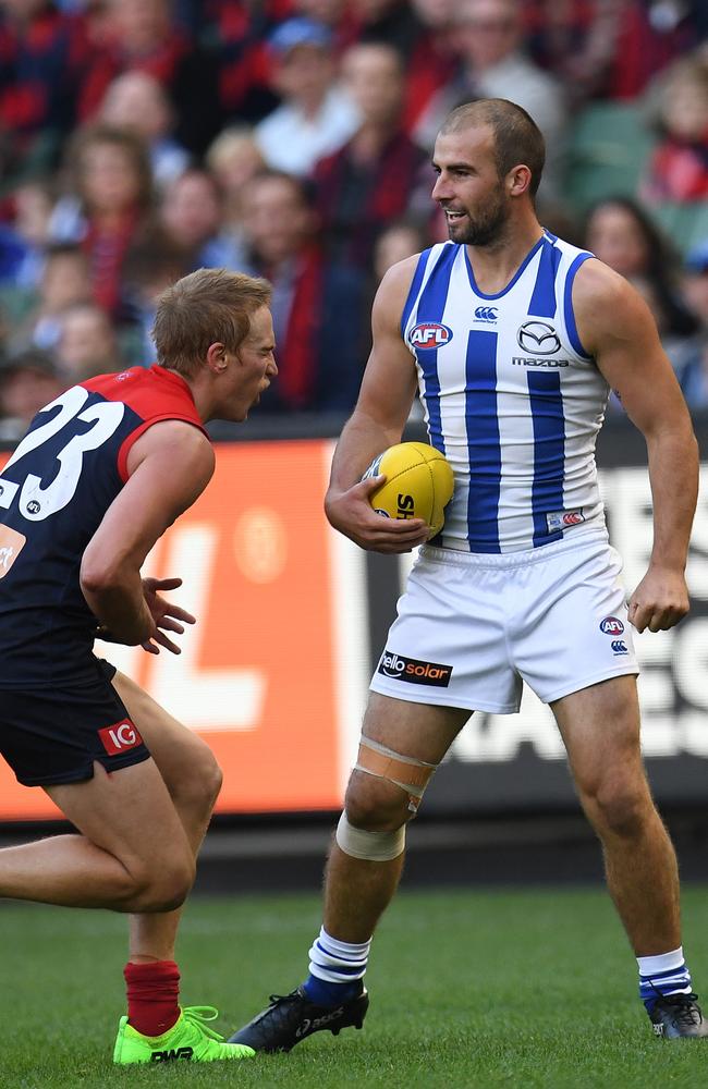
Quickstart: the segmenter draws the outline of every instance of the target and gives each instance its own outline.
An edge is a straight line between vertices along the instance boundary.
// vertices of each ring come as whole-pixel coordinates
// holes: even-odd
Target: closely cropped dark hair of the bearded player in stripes
[[[530,114],[506,98],[479,98],[463,102],[449,113],[440,133],[456,133],[480,125],[488,125],[493,133],[499,176],[504,178],[512,167],[524,163],[532,175],[528,192],[536,196],[546,162],[546,142]]]

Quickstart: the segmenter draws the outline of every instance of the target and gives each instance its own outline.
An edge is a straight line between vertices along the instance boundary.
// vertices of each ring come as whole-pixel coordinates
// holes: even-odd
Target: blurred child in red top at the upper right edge
[[[671,66],[658,91],[662,137],[642,196],[650,201],[708,198],[708,57]]]

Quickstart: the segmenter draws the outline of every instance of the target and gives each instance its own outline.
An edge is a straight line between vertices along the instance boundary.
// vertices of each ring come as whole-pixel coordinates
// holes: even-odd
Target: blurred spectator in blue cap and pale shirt
[[[354,134],[358,111],[334,82],[331,34],[324,24],[290,19],[269,45],[272,83],[283,102],[256,125],[256,140],[269,167],[308,174]]]

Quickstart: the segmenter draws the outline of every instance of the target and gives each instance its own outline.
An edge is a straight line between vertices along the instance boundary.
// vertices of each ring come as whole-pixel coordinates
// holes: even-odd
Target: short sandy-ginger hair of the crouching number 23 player
[[[251,331],[251,319],[270,304],[267,280],[230,272],[197,269],[162,292],[152,337],[161,367],[194,375],[210,344],[237,352]]]

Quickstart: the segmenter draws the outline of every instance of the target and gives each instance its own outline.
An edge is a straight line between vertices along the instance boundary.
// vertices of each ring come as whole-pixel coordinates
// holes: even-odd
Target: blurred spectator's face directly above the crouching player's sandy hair
[[[242,250],[221,230],[221,193],[206,171],[187,170],[168,185],[159,222],[182,250],[187,271],[233,268],[242,259]]]

